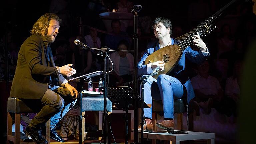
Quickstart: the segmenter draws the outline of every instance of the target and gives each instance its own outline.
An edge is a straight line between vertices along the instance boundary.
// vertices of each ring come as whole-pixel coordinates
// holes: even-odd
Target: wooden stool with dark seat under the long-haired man
[[[38,111],[37,111],[38,112]],[[28,144],[28,142],[23,142],[20,139],[20,114],[21,113],[37,113],[30,109],[23,101],[18,98],[8,98],[7,101],[7,138],[6,144],[10,144],[11,142],[14,144]],[[11,113],[15,113],[15,134],[12,135],[12,121],[13,118]],[[50,119],[46,123],[46,140],[48,144],[50,144]],[[29,142],[35,143],[35,142]]]

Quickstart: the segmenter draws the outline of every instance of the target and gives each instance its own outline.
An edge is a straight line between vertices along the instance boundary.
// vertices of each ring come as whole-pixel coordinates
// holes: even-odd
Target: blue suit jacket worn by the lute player
[[[175,40],[172,39],[172,44],[174,44],[174,43],[175,43]],[[155,52],[159,49],[160,49],[160,45],[159,45],[158,40],[148,44],[146,52],[143,54],[141,60],[138,63],[138,75],[139,76],[147,75],[147,65],[145,65],[145,60],[150,54],[152,54],[153,52]],[[173,77],[179,79],[180,82],[186,87],[187,92],[188,92],[188,95],[187,95],[188,102],[192,98],[195,97],[195,93],[194,93],[191,81],[190,81],[188,75],[186,74],[186,72],[184,71],[186,58],[193,63],[200,64],[200,63],[203,63],[207,59],[208,56],[209,56],[209,54],[207,56],[205,56],[202,54],[201,50],[199,52],[194,51],[189,46],[188,48],[186,48],[183,51],[178,64],[168,74],[170,76],[173,76]]]

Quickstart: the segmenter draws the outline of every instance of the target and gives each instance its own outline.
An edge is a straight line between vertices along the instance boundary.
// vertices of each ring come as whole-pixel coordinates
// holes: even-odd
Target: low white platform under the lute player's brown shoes
[[[179,144],[180,141],[187,140],[207,140],[207,144],[214,144],[215,134],[214,133],[205,133],[205,132],[193,132],[189,131],[188,134],[168,134],[167,131],[153,131],[153,132],[144,132],[144,138],[149,139],[158,139],[158,140],[168,140],[172,141],[172,144]],[[141,134],[139,133],[139,138]]]

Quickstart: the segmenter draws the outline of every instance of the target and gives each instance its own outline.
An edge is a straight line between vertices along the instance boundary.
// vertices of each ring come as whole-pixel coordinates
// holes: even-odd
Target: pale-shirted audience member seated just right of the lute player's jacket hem
[[[205,61],[198,66],[198,75],[191,79],[195,92],[195,101],[199,104],[206,114],[211,112],[213,104],[220,102],[223,90],[217,78],[210,76],[209,62]]]

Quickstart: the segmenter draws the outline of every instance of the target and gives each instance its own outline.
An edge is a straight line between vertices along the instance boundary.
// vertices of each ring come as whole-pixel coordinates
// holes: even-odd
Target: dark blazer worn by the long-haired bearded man
[[[10,97],[40,99],[48,89],[51,78],[58,78],[59,85],[64,82],[65,78],[54,64],[51,50],[48,66],[47,46],[45,37],[38,34],[31,35],[21,45]]]

